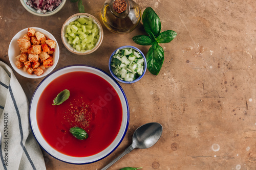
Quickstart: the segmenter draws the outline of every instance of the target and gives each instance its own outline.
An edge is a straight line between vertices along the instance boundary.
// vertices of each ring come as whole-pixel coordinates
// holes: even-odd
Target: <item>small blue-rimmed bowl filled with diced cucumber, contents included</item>
[[[117,81],[127,84],[135,83],[146,72],[146,58],[135,46],[121,46],[112,53],[109,69]]]

